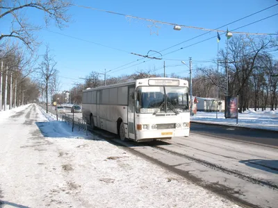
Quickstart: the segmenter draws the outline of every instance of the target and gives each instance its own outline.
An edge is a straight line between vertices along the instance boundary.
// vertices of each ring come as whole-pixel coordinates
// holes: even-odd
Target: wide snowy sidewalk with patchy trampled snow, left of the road
[[[238,207],[38,105],[0,114],[0,146],[2,207]]]

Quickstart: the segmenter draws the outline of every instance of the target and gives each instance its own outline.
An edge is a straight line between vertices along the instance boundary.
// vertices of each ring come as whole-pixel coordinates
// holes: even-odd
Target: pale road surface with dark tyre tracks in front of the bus
[[[195,129],[190,132],[190,137],[173,137],[166,141],[139,144],[112,138],[107,141],[125,146],[132,153],[163,166],[204,189],[233,200],[240,206],[277,207],[277,147],[263,146],[243,139],[230,139],[232,137],[229,137],[229,130],[221,137],[209,135],[209,128],[206,134],[203,134],[206,131],[200,131],[201,134],[197,131]],[[101,135],[105,134],[100,132]],[[256,138],[258,137],[257,135]],[[237,135],[236,138],[241,136]]]

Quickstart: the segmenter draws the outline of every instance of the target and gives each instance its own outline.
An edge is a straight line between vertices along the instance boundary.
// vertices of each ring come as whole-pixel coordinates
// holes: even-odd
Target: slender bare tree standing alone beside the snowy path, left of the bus
[[[43,60],[38,67],[38,73],[40,76],[42,86],[45,89],[47,103],[48,103],[48,94],[49,94],[49,83],[51,83],[51,80],[53,81],[53,78],[55,78],[56,73],[58,73],[58,71],[55,69],[56,64],[57,62],[55,62],[54,56],[50,55],[49,46],[47,46],[47,50],[44,53]],[[48,112],[48,105],[47,105],[47,112]]]

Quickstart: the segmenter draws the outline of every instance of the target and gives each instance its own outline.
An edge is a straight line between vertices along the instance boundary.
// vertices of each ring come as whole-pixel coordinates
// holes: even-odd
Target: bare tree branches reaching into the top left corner
[[[42,27],[29,24],[26,13],[33,9],[40,10],[44,15],[46,26],[49,26],[50,21],[54,20],[56,26],[63,28],[70,21],[70,16],[67,15],[70,6],[70,0],[1,0],[0,21],[6,16],[11,16],[13,20],[10,23],[10,28],[6,30],[10,33],[1,34],[0,40],[5,37],[13,37],[21,40],[28,49],[33,49],[33,46],[37,44],[34,31],[38,31]]]

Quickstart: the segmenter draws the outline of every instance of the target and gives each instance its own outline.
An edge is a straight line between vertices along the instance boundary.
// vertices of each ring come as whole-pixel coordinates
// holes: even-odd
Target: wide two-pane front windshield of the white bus
[[[188,87],[152,86],[137,88],[137,113],[175,112],[179,114],[179,112],[185,112],[188,109]]]

